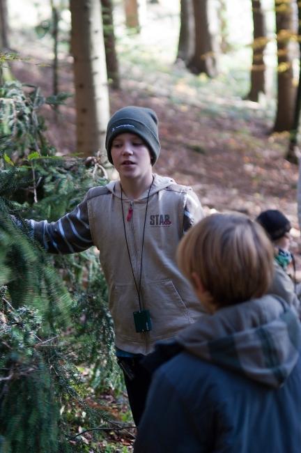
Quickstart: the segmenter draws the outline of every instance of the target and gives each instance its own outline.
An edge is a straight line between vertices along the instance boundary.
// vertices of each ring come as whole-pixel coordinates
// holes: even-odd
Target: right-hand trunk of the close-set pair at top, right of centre
[[[187,63],[193,74],[204,72],[208,77],[217,75],[213,41],[208,23],[208,0],[193,0],[194,7],[194,55]]]

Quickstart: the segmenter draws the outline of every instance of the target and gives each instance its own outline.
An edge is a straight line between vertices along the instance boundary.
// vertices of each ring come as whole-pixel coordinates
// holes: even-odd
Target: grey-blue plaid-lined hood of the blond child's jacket
[[[265,295],[201,316],[176,340],[203,360],[281,387],[298,360],[301,328],[284,301]]]

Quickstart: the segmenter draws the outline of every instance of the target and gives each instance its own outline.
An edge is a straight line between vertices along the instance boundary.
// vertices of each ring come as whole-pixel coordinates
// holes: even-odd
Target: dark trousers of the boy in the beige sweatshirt
[[[142,358],[145,358],[145,355],[137,355],[134,358],[118,357],[117,360],[123,371],[125,387],[136,426],[138,426],[144,413],[148,388],[151,385],[151,374],[140,364]]]

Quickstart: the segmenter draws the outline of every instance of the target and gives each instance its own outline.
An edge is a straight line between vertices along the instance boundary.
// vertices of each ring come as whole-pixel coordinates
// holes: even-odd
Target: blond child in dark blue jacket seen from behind
[[[157,345],[153,355],[169,360],[155,371],[134,452],[300,450],[301,328],[265,294],[273,260],[245,215],[210,215],[181,240],[180,269],[208,314]]]

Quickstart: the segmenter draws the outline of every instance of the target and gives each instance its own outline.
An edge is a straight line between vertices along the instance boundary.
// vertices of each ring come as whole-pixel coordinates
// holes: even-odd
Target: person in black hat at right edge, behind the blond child
[[[295,283],[295,260],[289,250],[291,222],[277,209],[264,210],[256,217],[256,221],[267,233],[275,251],[275,273],[269,293],[277,294],[286,300],[301,317],[300,284]],[[293,264],[293,277],[288,275],[291,264]]]

